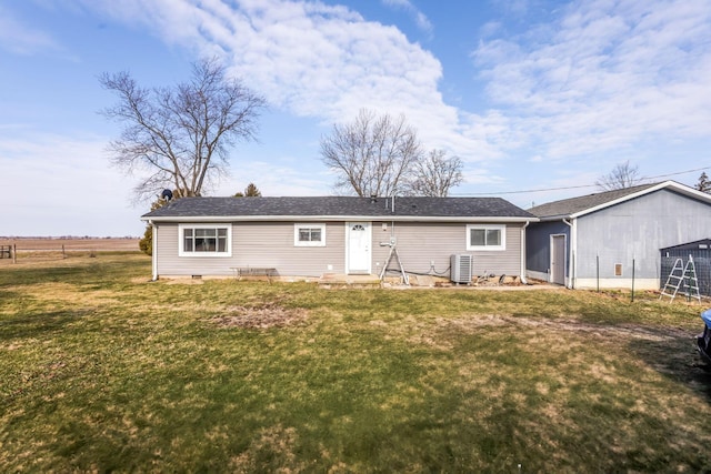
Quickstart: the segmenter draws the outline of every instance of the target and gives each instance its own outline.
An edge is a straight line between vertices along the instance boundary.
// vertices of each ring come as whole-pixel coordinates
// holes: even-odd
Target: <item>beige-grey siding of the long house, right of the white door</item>
[[[390,223],[385,231],[381,222],[373,222],[373,272],[379,272],[388,259],[390,248],[380,242],[390,240]],[[521,224],[507,225],[507,245],[503,251],[468,251],[468,223],[395,223],[397,249],[405,271],[429,273],[431,262],[434,271],[449,276],[450,256],[453,253],[474,255],[474,274],[521,274]],[[378,263],[380,265],[378,265]],[[392,262],[389,269],[397,269]]]

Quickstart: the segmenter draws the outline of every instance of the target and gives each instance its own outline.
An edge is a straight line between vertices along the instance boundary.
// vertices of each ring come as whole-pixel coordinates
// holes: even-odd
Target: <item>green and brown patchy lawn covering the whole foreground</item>
[[[703,306],[150,272],[2,263],[0,472],[711,470]]]

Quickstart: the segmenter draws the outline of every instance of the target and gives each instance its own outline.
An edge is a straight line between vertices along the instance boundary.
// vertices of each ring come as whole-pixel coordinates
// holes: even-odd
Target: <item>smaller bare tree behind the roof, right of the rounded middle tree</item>
[[[450,189],[464,180],[463,168],[459,157],[447,158],[444,150],[431,150],[425,158],[413,163],[408,194],[447,198]]]

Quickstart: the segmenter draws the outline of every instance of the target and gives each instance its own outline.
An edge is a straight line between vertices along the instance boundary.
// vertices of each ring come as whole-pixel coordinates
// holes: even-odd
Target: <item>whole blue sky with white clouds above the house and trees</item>
[[[140,235],[97,78],[169,85],[216,54],[270,105],[213,195],[332,194],[319,141],[361,108],[460,157],[453,195],[522,208],[628,160],[711,167],[709,0],[0,0],[0,235]]]

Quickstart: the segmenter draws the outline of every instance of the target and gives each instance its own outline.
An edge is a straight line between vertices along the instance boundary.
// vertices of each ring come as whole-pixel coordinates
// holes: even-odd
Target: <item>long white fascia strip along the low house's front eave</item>
[[[484,216],[389,216],[389,215],[212,215],[212,216],[142,216],[153,222],[343,222],[343,221],[394,221],[394,222],[538,222],[538,218],[484,218]]]

